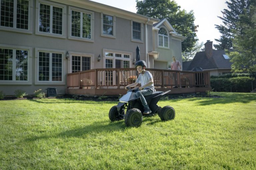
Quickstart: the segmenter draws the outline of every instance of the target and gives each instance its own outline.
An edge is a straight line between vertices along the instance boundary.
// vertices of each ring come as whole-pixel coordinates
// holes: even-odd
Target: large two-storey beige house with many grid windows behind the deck
[[[89,0],[0,0],[0,91],[56,87],[66,75],[96,68],[133,68],[136,47],[148,68],[181,60],[170,23]]]

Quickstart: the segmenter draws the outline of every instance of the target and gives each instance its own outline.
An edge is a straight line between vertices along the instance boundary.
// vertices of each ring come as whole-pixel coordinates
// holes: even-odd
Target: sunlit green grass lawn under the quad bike
[[[256,169],[256,94],[213,94],[139,128],[109,121],[117,102],[0,101],[0,169]]]

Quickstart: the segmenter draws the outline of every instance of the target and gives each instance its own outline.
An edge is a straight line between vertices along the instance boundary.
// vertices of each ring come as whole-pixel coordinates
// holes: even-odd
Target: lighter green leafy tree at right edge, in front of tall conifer
[[[249,9],[244,9],[237,23],[237,30],[233,30],[233,48],[229,53],[231,68],[234,72],[248,72],[256,78],[256,2],[251,1]]]

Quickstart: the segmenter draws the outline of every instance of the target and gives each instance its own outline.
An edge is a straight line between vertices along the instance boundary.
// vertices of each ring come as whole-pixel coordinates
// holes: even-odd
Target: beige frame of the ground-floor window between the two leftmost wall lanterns
[[[93,53],[85,53],[85,52],[77,52],[77,51],[68,51],[69,57],[68,57],[68,73],[72,73],[72,55],[76,56],[84,56],[84,57],[91,57],[91,69],[94,69],[94,54]]]

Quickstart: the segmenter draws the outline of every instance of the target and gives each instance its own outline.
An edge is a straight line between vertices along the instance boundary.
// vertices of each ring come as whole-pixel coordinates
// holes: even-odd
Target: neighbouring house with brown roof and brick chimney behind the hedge
[[[183,62],[183,69],[191,71],[199,67],[203,71],[210,71],[210,75],[219,76],[231,73],[231,62],[225,50],[213,50],[212,41],[207,41],[205,51],[197,52],[192,61]],[[197,69],[198,70],[198,69]]]

